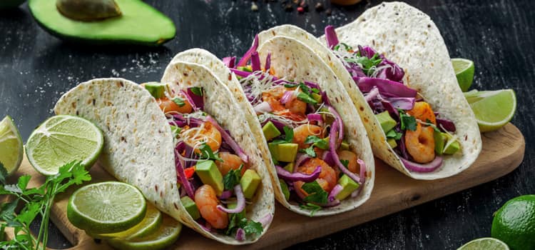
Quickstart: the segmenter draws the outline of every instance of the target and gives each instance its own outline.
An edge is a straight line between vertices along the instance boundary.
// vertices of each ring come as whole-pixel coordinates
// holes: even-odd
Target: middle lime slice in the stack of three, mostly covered
[[[115,234],[93,234],[91,231],[86,233],[96,239],[133,239],[143,237],[155,232],[162,224],[162,213],[151,204],[147,204],[147,213],[143,221],[126,231]]]

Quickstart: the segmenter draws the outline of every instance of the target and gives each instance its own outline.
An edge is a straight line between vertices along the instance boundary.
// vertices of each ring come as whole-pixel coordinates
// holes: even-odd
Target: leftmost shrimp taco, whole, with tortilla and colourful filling
[[[99,164],[161,211],[224,244],[257,241],[275,199],[243,112],[204,66],[171,64],[163,82],[93,79],[54,110],[97,124],[105,137]]]

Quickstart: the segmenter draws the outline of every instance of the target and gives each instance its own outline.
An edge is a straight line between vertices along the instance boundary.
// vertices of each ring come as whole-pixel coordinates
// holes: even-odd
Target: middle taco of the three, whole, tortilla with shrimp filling
[[[320,59],[322,71],[303,63],[310,56],[315,54],[304,44],[276,38],[253,46],[241,60],[243,66],[235,58],[220,61],[199,49],[173,61],[204,64],[228,84],[249,116],[255,138],[263,141],[258,147],[267,152],[277,200],[298,214],[326,216],[367,201],[374,159],[360,119],[349,119],[358,115],[345,104],[349,96],[337,91],[340,83]],[[249,59],[252,64],[246,66]]]

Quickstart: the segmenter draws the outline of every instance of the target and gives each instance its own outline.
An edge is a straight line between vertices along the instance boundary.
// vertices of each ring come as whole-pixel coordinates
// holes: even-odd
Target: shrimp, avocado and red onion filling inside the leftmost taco
[[[248,219],[261,179],[248,168],[248,156],[218,121],[203,111],[203,89],[180,93],[165,84],[144,84],[168,118],[175,136],[175,166],[180,200],[206,231],[238,241],[261,235],[263,224]]]

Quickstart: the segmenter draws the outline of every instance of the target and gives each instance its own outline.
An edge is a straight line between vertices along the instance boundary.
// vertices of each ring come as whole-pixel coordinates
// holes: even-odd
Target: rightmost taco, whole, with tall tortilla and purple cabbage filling
[[[315,51],[357,107],[374,155],[403,174],[441,179],[477,159],[477,121],[429,16],[404,3],[384,3],[352,24],[325,30],[327,36],[318,40],[283,25],[263,31],[258,39],[289,36]]]

